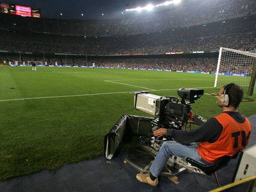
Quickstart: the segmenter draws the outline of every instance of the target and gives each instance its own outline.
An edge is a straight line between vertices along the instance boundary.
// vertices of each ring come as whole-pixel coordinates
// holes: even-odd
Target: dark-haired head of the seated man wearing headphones
[[[228,103],[225,103],[226,100],[224,94],[228,95]],[[221,88],[218,93],[218,106],[220,107],[234,107],[237,109],[239,104],[242,101],[244,96],[244,91],[242,88],[234,83],[229,83]],[[222,98],[222,99],[221,99]]]

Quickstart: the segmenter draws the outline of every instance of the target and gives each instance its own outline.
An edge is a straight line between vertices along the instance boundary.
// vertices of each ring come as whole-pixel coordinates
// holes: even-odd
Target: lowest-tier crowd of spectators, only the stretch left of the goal
[[[70,65],[70,66],[88,66],[92,67],[114,67],[114,68],[129,68],[129,69],[159,69],[172,71],[190,71],[198,70],[203,72],[215,72],[218,58],[165,58],[165,59],[85,59],[79,58],[47,58],[45,63],[41,57],[19,57],[7,56],[0,57],[1,61],[6,60],[7,64],[28,64],[28,61],[41,61],[41,64],[46,65]]]

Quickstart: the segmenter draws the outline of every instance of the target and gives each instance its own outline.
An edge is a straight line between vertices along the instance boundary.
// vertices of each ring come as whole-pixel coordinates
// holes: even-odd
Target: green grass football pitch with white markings
[[[104,136],[134,109],[134,91],[177,96],[178,88],[204,88],[192,105],[205,118],[220,113],[215,76],[126,69],[0,67],[0,180],[54,170],[103,156]],[[247,97],[247,96],[246,96]],[[239,110],[252,115],[256,96]]]

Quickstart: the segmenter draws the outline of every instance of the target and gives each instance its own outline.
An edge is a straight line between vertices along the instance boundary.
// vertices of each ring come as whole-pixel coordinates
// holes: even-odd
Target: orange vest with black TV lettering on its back
[[[221,123],[223,131],[214,143],[205,141],[198,144],[198,154],[203,160],[214,163],[222,156],[234,156],[248,144],[252,125],[245,118],[244,123],[237,123],[230,115],[222,113],[215,117]]]

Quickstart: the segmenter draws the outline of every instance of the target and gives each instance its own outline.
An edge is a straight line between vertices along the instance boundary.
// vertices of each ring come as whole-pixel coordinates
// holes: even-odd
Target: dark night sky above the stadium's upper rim
[[[4,1],[4,0],[1,0]],[[157,4],[164,0],[6,0],[23,6],[41,8],[42,17],[65,19],[112,19],[123,17],[122,10],[137,6],[146,6],[148,3]],[[83,13],[83,17],[81,14]],[[101,14],[104,13],[104,16]]]

